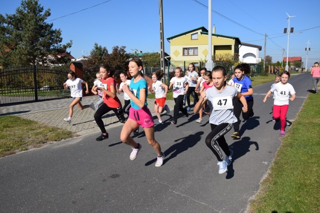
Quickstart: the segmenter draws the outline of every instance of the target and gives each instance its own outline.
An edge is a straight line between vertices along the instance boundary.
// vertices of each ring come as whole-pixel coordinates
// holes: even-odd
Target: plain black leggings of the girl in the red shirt
[[[102,121],[102,116],[111,110],[115,113],[116,117],[119,119],[121,123],[125,123],[125,118],[123,115],[123,110],[121,105],[118,108],[110,108],[105,103],[103,103],[94,113],[94,120],[102,133],[106,133],[106,130],[104,128],[104,124]]]

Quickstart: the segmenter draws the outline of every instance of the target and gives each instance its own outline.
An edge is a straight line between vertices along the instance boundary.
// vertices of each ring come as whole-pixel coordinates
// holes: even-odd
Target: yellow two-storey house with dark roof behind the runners
[[[193,62],[195,66],[208,60],[208,30],[201,26],[168,37],[170,43],[171,62],[175,66],[184,66]],[[235,55],[239,53],[241,41],[237,37],[215,34],[212,30],[212,56],[223,54]]]

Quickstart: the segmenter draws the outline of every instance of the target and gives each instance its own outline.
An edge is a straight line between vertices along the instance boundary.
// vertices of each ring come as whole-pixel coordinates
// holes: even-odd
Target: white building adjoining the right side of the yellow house
[[[259,51],[262,49],[259,45],[243,43],[239,45],[239,61],[241,63],[257,64],[261,62]]]

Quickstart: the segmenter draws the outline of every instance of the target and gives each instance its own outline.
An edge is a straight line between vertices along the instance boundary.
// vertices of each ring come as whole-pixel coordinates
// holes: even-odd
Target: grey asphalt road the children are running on
[[[290,77],[297,98],[290,102],[288,125],[311,82],[309,73]],[[95,141],[97,133],[86,134],[0,159],[0,212],[245,212],[281,144],[279,123],[271,121],[273,100],[262,102],[270,85],[253,88],[254,116],[241,122],[241,139],[231,139],[232,131],[226,134],[233,150],[227,173],[218,174],[217,161],[205,146],[207,116],[200,125],[195,123],[198,115],[192,114],[179,118],[175,126],[166,122],[155,127],[166,156],[159,168],[144,132],[135,138],[142,149],[130,161],[131,149],[120,142],[117,126],[108,129],[109,138],[101,142]]]

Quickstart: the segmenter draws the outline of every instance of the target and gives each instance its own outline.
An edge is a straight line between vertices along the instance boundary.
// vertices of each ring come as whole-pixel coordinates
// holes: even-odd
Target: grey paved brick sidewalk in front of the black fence
[[[124,105],[123,96],[118,96],[122,106]],[[33,103],[17,104],[12,106],[0,107],[0,116],[5,115],[15,115],[24,119],[29,119],[37,121],[39,123],[46,124],[48,126],[55,126],[59,128],[64,128],[76,133],[77,135],[86,135],[94,132],[100,132],[98,126],[93,123],[94,112],[90,108],[80,110],[78,107],[73,108],[73,116],[71,124],[66,123],[63,118],[68,117],[69,104],[71,103],[71,98],[57,99],[40,101]],[[93,102],[94,104],[98,101],[98,96],[86,96],[82,98],[82,105],[89,104]],[[154,99],[147,99],[148,108],[152,115],[155,116],[153,112]],[[166,100],[166,104],[169,106],[170,110],[173,110],[174,101]],[[154,118],[154,117],[153,117]],[[104,126],[106,129],[121,126],[117,117],[112,111],[108,112],[102,117]],[[155,118],[157,122],[157,118]]]

